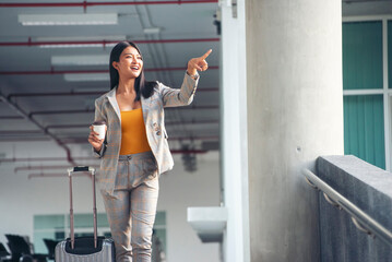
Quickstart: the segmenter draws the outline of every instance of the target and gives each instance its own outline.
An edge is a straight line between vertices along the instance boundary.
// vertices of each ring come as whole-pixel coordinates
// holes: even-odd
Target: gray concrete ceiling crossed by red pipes
[[[219,35],[214,25],[217,1],[163,1],[168,4],[36,7],[47,0],[0,1],[0,142],[56,140],[86,144],[94,99],[109,88],[106,81],[68,82],[66,72],[106,72],[103,66],[52,66],[55,56],[106,56],[111,47],[43,48],[39,43],[140,43],[149,80],[179,87],[187,61],[212,48],[210,69],[201,74],[192,106],[168,109],[166,124],[174,150],[193,140],[198,148],[215,148],[219,138]],[[66,1],[61,1],[66,2]],[[81,0],[68,0],[80,4]],[[88,1],[91,2],[91,1]],[[127,1],[131,2],[131,1]],[[140,2],[140,1],[135,1]],[[145,2],[145,1],[143,1]],[[171,3],[170,3],[171,2]],[[176,3],[173,3],[176,2]],[[178,4],[178,2],[182,2]],[[23,3],[4,7],[4,3]],[[19,14],[117,13],[116,25],[23,26]],[[392,1],[342,1],[343,16],[392,14]],[[146,28],[158,27],[158,34]],[[169,41],[163,41],[169,40]],[[190,41],[189,41],[190,40]],[[147,41],[147,43],[146,43]],[[209,146],[207,146],[209,144]],[[212,147],[211,147],[212,146]]]

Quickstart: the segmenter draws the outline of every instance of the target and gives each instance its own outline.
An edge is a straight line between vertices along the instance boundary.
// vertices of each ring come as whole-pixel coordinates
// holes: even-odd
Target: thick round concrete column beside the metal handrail
[[[300,170],[343,154],[341,5],[246,1],[251,261],[320,259],[318,196]]]

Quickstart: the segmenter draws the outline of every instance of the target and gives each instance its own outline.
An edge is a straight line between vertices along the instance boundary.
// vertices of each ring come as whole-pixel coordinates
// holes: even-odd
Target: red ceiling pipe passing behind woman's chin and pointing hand
[[[209,67],[209,69],[219,69],[217,66]],[[181,68],[152,68],[152,69],[144,69],[144,72],[158,72],[158,71],[186,71],[185,67]],[[59,70],[55,71],[54,69],[49,71],[2,71],[0,74],[2,75],[21,75],[21,74],[79,74],[79,73],[109,73],[109,70],[78,70],[78,71],[69,71],[69,70]]]

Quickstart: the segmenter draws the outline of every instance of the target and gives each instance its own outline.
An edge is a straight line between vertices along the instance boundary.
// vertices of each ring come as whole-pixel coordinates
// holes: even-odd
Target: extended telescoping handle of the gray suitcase
[[[94,214],[94,248],[97,247],[97,210],[96,210],[96,196],[95,196],[95,169],[88,166],[78,166],[68,168],[68,176],[70,177],[70,227],[71,227],[71,248],[75,246],[75,234],[73,225],[73,201],[72,201],[72,172],[90,171],[93,176],[93,214]]]

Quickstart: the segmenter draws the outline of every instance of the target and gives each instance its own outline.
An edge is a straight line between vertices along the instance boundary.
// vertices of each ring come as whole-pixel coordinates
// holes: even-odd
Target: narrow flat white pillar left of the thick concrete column
[[[223,241],[225,262],[249,262],[247,67],[245,0],[221,1],[222,12],[222,184],[228,212]],[[235,15],[234,15],[235,14]]]

